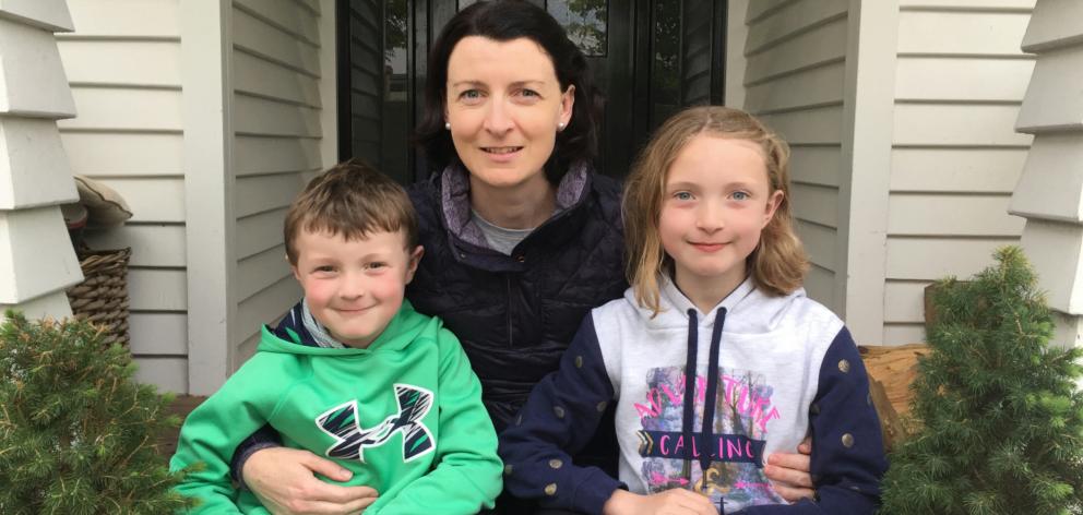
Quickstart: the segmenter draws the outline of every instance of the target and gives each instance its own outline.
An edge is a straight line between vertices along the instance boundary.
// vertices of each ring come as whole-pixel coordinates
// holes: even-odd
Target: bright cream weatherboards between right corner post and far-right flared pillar
[[[901,0],[883,343],[921,342],[924,288],[1017,243],[1008,214],[1032,139],[1014,132],[1034,67],[1034,0]]]

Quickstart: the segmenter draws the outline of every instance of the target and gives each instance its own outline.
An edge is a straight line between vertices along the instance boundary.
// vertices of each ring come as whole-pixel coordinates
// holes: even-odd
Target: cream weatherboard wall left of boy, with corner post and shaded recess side
[[[282,223],[336,157],[334,10],[318,0],[68,4],[76,32],[59,47],[79,117],[61,136],[73,172],[115,188],[134,213],[91,243],[133,248],[138,376],[212,393],[254,351],[260,325],[300,298]]]

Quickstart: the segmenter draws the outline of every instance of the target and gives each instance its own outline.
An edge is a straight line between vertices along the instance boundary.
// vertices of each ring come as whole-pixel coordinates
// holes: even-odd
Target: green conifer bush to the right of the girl
[[[921,429],[890,456],[880,513],[1083,513],[1083,374],[1022,249],[933,295],[931,352],[912,414]]]

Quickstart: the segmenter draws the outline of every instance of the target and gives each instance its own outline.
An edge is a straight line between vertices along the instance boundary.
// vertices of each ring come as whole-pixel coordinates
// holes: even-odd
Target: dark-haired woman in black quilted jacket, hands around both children
[[[591,170],[600,97],[583,55],[543,9],[505,0],[462,10],[437,38],[428,72],[417,141],[442,171],[410,189],[425,258],[407,297],[459,336],[499,432],[557,369],[590,309],[628,287],[620,188]],[[576,462],[614,471],[614,431],[597,433],[604,440]],[[376,494],[317,480],[348,476],[255,440],[238,448],[235,470],[275,513],[356,513]],[[807,456],[776,457],[786,468],[769,467],[769,477],[810,484]],[[508,496],[497,507],[532,511]]]

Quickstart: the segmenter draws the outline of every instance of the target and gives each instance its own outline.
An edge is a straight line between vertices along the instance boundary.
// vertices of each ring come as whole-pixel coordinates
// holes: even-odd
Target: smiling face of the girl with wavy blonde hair
[[[662,245],[674,260],[681,290],[724,297],[740,285],[747,275],[745,260],[782,197],[782,191],[771,191],[758,144],[693,137],[668,170],[658,219]]]

